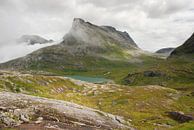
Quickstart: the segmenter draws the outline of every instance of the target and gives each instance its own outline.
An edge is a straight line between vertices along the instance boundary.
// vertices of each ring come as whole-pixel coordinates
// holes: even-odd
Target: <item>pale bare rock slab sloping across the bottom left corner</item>
[[[1,92],[0,106],[0,120],[7,127],[23,123],[43,123],[46,127],[49,122],[61,129],[67,125],[83,129],[132,129],[122,117],[65,101]]]

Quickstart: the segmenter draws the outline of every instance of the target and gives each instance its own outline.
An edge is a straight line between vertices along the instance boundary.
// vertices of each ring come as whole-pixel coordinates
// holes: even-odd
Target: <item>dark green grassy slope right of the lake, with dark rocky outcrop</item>
[[[158,75],[146,75],[147,71],[158,73]],[[127,83],[127,81],[131,82]],[[144,68],[134,73],[129,72],[124,82],[128,85],[152,84],[194,91],[194,62],[187,58],[157,61],[157,64],[148,69]]]

